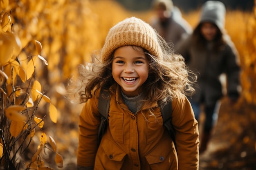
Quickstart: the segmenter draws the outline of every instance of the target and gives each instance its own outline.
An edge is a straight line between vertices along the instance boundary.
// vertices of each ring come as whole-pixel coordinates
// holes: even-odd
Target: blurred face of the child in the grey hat
[[[218,28],[211,22],[203,22],[201,25],[201,33],[207,41],[212,41],[217,35]]]

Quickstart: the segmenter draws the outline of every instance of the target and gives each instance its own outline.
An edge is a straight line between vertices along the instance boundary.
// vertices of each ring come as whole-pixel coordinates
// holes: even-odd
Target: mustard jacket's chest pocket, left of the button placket
[[[124,143],[124,113],[109,112],[108,124],[113,139]]]

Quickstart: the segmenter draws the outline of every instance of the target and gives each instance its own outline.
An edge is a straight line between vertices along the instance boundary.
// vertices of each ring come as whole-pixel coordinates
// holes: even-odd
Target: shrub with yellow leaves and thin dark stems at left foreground
[[[8,4],[7,0],[2,0]],[[42,45],[37,40],[31,40],[23,48],[18,36],[11,30],[10,13],[0,15],[0,167],[7,169],[37,169],[53,170],[45,165],[42,155],[45,149],[55,152],[55,163],[63,167],[63,158],[58,153],[56,142],[42,129],[44,118],[36,114],[38,104],[49,103],[49,117],[57,122],[57,109],[51,99],[41,92],[41,84],[37,80],[36,66],[48,65],[40,55]],[[40,61],[42,61],[40,63]],[[42,131],[40,144],[30,162],[24,162],[22,155],[35,137],[36,129]],[[47,146],[49,144],[51,148]],[[25,164],[26,167],[22,167]]]

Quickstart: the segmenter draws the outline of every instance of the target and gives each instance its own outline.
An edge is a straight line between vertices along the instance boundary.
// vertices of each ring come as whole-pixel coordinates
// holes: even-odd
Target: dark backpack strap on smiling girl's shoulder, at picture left
[[[99,125],[99,130],[98,130],[98,144],[101,143],[101,138],[108,126],[108,110],[110,105],[110,98],[108,99],[107,98],[108,96],[109,96],[108,91],[103,91],[101,89],[99,93],[99,101],[98,101],[98,109],[99,109],[99,113],[101,113],[101,123]]]

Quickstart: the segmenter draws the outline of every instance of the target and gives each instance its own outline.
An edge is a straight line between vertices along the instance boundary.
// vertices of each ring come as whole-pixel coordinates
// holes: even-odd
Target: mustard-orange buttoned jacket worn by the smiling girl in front
[[[157,103],[152,105],[155,116],[147,116],[147,108],[135,115],[124,104],[118,85],[112,86],[111,92],[109,124],[99,147],[98,98],[89,99],[81,111],[79,166],[94,166],[94,170],[198,170],[198,122],[185,96],[172,102],[177,155]]]

